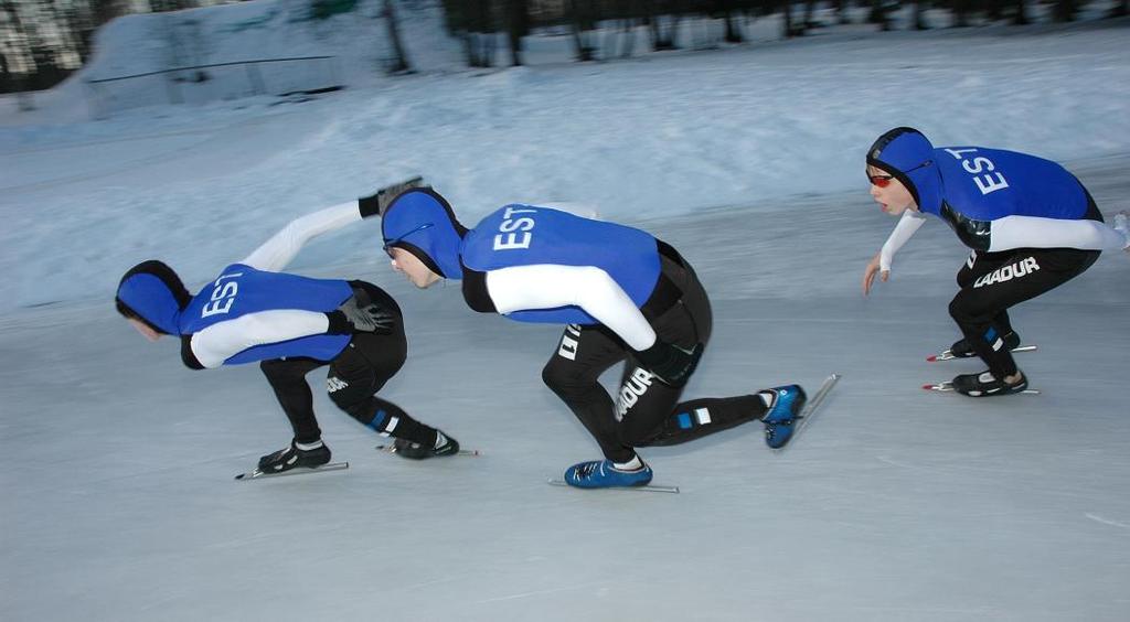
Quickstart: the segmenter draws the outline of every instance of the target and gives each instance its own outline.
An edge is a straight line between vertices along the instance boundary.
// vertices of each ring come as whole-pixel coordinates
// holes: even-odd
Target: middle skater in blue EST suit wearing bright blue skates
[[[805,402],[797,385],[679,401],[710,341],[710,300],[690,264],[652,235],[525,204],[467,229],[431,189],[393,200],[381,228],[393,269],[417,287],[462,280],[471,309],[566,326],[542,379],[605,456],[566,470],[570,485],[644,485],[652,471],[636,447],[748,421],[765,423],[770,446],[789,441]],[[614,401],[598,378],[619,362],[626,365]]]

